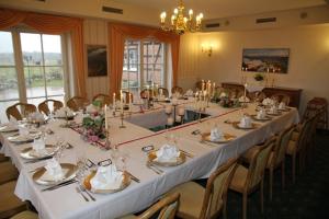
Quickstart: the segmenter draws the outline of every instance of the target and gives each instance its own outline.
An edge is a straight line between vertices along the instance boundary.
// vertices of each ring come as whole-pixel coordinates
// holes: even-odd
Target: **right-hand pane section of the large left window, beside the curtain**
[[[27,102],[64,101],[64,66],[60,35],[21,33]]]

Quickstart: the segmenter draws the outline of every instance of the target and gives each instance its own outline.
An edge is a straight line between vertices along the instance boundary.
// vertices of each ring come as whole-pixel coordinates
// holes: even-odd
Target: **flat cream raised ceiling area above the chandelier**
[[[157,12],[167,11],[170,14],[179,0],[105,0],[123,4],[149,8]],[[185,9],[195,13],[203,12],[204,19],[241,16],[272,11],[283,11],[326,4],[325,0],[183,0]]]

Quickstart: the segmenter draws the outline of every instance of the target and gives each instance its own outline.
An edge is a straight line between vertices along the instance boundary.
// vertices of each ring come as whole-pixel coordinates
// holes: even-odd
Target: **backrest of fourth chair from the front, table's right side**
[[[292,137],[295,125],[290,126],[279,134],[275,147],[274,147],[274,155],[272,160],[273,165],[277,165],[285,158],[285,151],[288,146],[290,139]]]

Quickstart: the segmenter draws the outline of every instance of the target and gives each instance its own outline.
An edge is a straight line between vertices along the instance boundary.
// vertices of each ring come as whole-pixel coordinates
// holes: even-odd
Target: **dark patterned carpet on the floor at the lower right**
[[[265,174],[264,214],[260,212],[259,192],[249,195],[249,219],[325,219],[329,218],[329,135],[317,134],[311,163],[292,183],[291,159],[286,164],[286,187],[281,187],[281,171],[274,173],[273,200],[269,199],[269,173]],[[205,181],[198,182],[205,185]],[[229,192],[227,218],[242,218],[242,196]]]

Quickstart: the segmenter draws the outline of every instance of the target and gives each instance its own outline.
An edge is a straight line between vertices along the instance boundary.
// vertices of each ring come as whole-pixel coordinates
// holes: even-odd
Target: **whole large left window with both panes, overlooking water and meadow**
[[[63,37],[13,30],[0,32],[0,119],[19,101],[64,101]],[[21,50],[20,50],[21,48]]]

